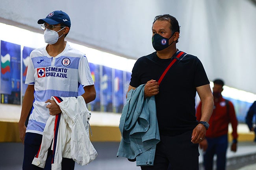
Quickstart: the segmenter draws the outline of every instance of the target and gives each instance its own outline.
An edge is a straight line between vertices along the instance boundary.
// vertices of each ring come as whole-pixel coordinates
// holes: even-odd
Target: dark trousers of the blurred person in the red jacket
[[[213,156],[217,155],[217,170],[226,169],[226,151],[228,148],[228,135],[223,135],[216,138],[206,138],[208,148],[204,153],[204,168],[212,170]]]

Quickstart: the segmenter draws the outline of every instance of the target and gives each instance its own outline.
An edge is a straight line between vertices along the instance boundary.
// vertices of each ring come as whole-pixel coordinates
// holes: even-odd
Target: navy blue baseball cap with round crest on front
[[[51,25],[62,23],[68,27],[71,27],[69,15],[63,11],[53,11],[49,13],[46,18],[38,20],[37,24],[44,24],[45,22]]]

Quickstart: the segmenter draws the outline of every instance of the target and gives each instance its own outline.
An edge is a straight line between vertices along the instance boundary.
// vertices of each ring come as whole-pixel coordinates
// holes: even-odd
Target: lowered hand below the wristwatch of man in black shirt
[[[202,140],[204,140],[206,134],[206,128],[204,127],[204,125],[202,124],[198,124],[192,132],[192,136],[191,136],[191,142],[192,143],[199,143]]]

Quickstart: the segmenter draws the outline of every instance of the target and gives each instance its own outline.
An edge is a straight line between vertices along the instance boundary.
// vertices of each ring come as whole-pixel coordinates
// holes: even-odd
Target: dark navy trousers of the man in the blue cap
[[[26,133],[24,141],[24,159],[23,170],[51,170],[52,168],[52,150],[48,150],[48,156],[45,163],[45,168],[32,165],[32,161],[37,154],[42,142],[43,135],[37,133]],[[50,147],[51,148],[51,147]],[[74,170],[75,162],[73,159],[62,158],[62,170]]]

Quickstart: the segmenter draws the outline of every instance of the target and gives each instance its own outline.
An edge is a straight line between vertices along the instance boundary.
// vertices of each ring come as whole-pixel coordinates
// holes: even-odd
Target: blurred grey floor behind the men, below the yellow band
[[[75,170],[140,170],[135,162],[116,157],[119,143],[94,142],[98,157],[89,165],[75,165]],[[0,143],[0,170],[21,170],[24,146],[22,143]],[[200,169],[202,152],[200,151]],[[227,170],[256,170],[256,144],[253,142],[238,143],[237,152],[228,150]]]

